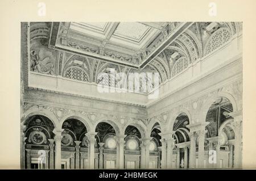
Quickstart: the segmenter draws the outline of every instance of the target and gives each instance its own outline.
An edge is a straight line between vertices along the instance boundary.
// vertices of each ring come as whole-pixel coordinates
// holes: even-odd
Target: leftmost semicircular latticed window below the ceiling
[[[68,68],[64,73],[64,77],[76,81],[89,82],[88,75],[79,67],[72,66],[71,68]]]

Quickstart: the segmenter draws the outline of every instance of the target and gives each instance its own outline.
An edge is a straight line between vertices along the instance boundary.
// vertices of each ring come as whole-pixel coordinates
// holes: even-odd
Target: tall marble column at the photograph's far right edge
[[[242,167],[242,111],[229,113],[234,118],[232,123],[235,133],[234,139],[234,168]]]

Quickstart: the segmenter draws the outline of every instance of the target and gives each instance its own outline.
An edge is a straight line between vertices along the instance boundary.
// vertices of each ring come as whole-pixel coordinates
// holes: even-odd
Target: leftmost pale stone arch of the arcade
[[[59,123],[57,121],[57,117],[54,115],[53,112],[45,109],[45,110],[35,110],[34,108],[27,110],[24,112],[23,117],[21,119],[21,124],[24,125],[26,123],[26,120],[34,115],[42,115],[46,116],[49,120],[52,121],[52,124],[54,125],[55,128],[59,128]]]

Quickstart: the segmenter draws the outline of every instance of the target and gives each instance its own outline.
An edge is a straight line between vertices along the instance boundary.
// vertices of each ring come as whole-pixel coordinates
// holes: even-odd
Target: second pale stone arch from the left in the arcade
[[[76,113],[76,114],[69,113],[67,115],[64,115],[63,118],[60,121],[60,127],[62,127],[64,121],[68,120],[68,119],[77,119],[85,125],[87,132],[93,131],[92,130],[93,126],[92,126],[92,123],[90,123],[90,120],[86,119],[86,117],[84,115],[80,114],[80,113]]]

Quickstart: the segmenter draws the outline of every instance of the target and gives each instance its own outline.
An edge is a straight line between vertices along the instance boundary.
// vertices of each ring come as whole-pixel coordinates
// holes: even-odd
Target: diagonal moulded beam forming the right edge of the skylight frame
[[[139,68],[143,69],[147,64],[149,64],[155,57],[163,52],[177,37],[179,37],[184,31],[186,31],[194,22],[185,22],[177,30],[170,33],[167,39],[162,42],[152,53],[147,56],[142,63],[139,65]]]

